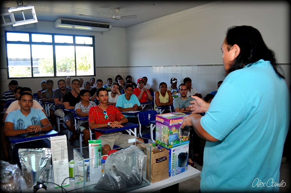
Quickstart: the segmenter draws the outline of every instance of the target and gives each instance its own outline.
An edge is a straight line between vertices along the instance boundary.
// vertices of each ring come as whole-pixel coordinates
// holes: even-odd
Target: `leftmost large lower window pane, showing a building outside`
[[[9,78],[31,77],[29,44],[7,44]]]

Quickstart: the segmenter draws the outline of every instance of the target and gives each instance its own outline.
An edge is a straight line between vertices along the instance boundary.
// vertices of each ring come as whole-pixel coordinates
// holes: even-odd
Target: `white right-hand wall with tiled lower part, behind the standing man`
[[[134,79],[148,76],[154,90],[162,81],[169,84],[173,76],[178,84],[190,77],[192,86],[205,96],[224,79],[220,47],[227,28],[251,25],[276,53],[289,86],[289,12],[286,1],[214,2],[127,28],[129,72]]]

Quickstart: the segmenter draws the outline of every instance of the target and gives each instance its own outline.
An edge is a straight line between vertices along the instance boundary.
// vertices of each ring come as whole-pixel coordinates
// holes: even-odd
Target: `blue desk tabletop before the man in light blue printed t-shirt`
[[[17,136],[8,136],[8,139],[9,139],[10,143],[22,143],[22,142],[45,139],[45,138],[48,138],[48,137],[54,137],[54,136],[58,135],[58,132],[54,131],[54,130],[40,131],[40,134],[41,133],[43,133],[45,135],[39,135],[39,136],[35,136],[35,137],[26,138],[25,135],[28,135],[26,133],[26,134],[17,135]]]

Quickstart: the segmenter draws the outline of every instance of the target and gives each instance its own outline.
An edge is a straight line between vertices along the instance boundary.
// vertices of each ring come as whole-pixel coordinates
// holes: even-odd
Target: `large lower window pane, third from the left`
[[[56,75],[75,76],[74,46],[56,46]]]

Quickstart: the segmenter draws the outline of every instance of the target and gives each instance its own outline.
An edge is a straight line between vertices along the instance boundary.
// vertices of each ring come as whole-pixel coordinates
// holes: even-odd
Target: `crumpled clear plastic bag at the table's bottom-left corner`
[[[1,192],[21,192],[21,188],[26,187],[26,183],[19,166],[3,160],[0,161],[0,164]]]

